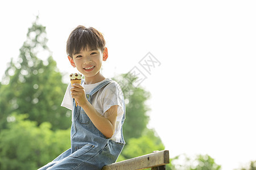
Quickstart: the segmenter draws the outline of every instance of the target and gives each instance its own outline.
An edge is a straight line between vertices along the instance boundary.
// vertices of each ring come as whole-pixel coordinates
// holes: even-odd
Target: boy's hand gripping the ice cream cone
[[[80,107],[84,105],[87,101],[85,97],[85,89],[80,84],[73,84],[73,87],[70,88],[71,96],[73,99],[76,99],[77,105]]]

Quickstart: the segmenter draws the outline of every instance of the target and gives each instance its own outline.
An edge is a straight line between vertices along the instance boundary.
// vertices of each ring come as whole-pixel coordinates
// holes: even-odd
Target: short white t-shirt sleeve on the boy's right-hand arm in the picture
[[[123,92],[121,87],[117,82],[111,82],[104,88],[102,92],[102,100],[103,100],[103,113],[108,111],[110,107],[113,105],[118,105],[118,115],[121,116],[123,114]]]

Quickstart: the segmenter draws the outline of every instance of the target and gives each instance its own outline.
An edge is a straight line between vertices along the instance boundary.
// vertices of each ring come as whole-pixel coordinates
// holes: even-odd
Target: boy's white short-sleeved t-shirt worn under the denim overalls
[[[93,90],[98,84],[110,80],[110,78],[106,78],[101,82],[95,84],[82,84],[85,88],[86,94],[89,94],[90,91]],[[73,98],[71,96],[71,83],[69,83],[67,87],[67,91],[65,92],[64,99],[61,103],[62,107],[68,108],[72,110],[72,121],[73,121]],[[110,138],[115,142],[120,142],[121,140],[121,126],[122,126],[122,117],[123,117],[123,98],[122,98],[122,90],[117,82],[111,82],[105,87],[102,87],[96,94],[92,97],[92,105],[96,109],[96,111],[102,115],[105,114],[106,111],[113,105],[118,105],[117,109],[117,122],[115,124],[115,132],[113,136]]]

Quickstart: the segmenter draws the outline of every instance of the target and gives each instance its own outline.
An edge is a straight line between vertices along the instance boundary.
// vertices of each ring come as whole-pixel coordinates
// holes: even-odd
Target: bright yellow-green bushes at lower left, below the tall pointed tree
[[[70,147],[70,130],[51,130],[49,122],[24,120],[13,114],[0,133],[0,169],[37,169]]]

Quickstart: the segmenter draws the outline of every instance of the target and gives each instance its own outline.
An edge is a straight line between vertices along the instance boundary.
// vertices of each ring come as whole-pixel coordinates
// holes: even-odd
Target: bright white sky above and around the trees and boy
[[[57,67],[67,74],[76,71],[65,53],[69,33],[92,26],[107,41],[105,76],[132,69],[146,76],[141,86],[151,92],[150,127],[171,157],[209,154],[222,169],[256,160],[255,1],[24,0],[0,6],[0,78],[10,58],[18,58],[36,15]],[[145,61],[149,73],[139,64]]]

